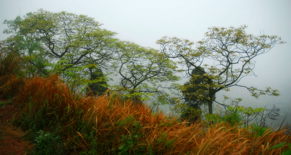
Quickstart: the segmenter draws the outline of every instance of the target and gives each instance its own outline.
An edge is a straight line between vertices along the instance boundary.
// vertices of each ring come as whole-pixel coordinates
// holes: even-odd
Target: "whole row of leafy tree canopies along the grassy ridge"
[[[115,32],[101,29],[99,22],[86,15],[40,9],[3,24],[8,27],[3,33],[11,36],[1,45],[24,56],[29,77],[56,73],[79,89],[94,89],[94,95],[108,87],[137,102],[151,99],[153,104],[179,107],[186,103],[194,108],[207,103],[210,114],[212,103],[217,102],[215,94],[233,86],[246,88],[255,98],[279,95],[270,87],[261,90],[240,83],[243,77],[255,75],[257,56],[285,43],[263,32],[247,34],[246,26],[211,27],[196,46],[187,39],[163,37],[157,41],[161,49],[155,50],[114,38]],[[190,77],[175,87],[182,92],[181,98],[172,97],[165,83],[180,80],[177,71]],[[118,82],[109,86],[113,78]]]

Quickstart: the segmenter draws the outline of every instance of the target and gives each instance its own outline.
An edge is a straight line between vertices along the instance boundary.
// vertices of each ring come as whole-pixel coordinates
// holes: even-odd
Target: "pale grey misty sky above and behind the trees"
[[[290,67],[291,67],[291,1],[280,0],[244,0],[244,1],[190,1],[190,0],[0,0],[0,21],[14,20],[38,9],[51,12],[66,11],[88,15],[102,23],[102,28],[117,32],[117,38],[128,40],[146,47],[159,49],[155,42],[163,36],[177,36],[197,42],[204,37],[208,27],[238,27],[247,25],[247,33],[258,35],[276,35],[285,44],[276,45],[266,54],[257,57],[254,72],[258,77],[246,77],[242,80],[246,86],[259,89],[271,87],[278,89],[281,96],[262,96],[253,98],[244,89],[230,89],[231,98],[243,98],[241,105],[281,108],[282,121],[285,115],[291,118]],[[6,25],[0,24],[1,32]],[[0,40],[7,35],[1,33]],[[290,118],[288,119],[291,124]]]

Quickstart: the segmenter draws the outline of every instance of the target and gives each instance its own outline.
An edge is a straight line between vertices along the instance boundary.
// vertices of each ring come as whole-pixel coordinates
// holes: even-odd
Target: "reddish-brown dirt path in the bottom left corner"
[[[10,100],[0,99],[0,155],[23,155],[32,146],[22,139],[25,133],[10,124],[16,110]]]

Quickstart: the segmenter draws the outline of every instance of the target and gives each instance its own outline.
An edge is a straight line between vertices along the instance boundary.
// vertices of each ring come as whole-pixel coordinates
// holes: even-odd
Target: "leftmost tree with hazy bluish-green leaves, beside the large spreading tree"
[[[26,70],[29,76],[46,75],[48,61],[39,40],[36,40],[36,32],[23,33],[27,29],[22,25],[24,20],[19,16],[15,20],[5,20],[3,24],[8,26],[8,29],[5,29],[3,33],[13,35],[3,40],[1,44],[8,48],[13,47],[14,51],[25,56],[24,64],[27,66]]]

